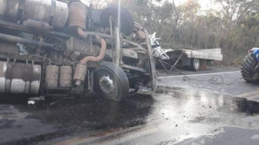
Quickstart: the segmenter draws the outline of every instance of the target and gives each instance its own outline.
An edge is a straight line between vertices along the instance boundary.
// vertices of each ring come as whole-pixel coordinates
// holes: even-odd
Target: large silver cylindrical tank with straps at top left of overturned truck
[[[66,25],[68,5],[55,0],[0,0],[3,15],[11,21],[18,20],[19,5],[23,5],[21,20],[33,19],[48,22],[52,27],[62,28]],[[1,11],[0,11],[1,13]]]

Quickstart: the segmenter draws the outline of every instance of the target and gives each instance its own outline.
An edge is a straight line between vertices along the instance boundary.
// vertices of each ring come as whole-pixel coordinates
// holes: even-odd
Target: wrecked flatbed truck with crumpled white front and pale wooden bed
[[[170,73],[176,67],[189,68],[193,71],[205,70],[207,63],[213,60],[221,61],[223,56],[221,48],[215,49],[162,49],[159,38],[155,37],[156,33],[150,35],[151,45],[153,48],[156,68],[163,68]]]

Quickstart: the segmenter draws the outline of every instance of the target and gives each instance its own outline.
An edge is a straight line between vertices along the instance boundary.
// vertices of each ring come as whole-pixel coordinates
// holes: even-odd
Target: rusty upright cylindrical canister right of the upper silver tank
[[[86,29],[87,6],[83,3],[71,3],[69,5],[68,30],[77,33],[77,28]]]

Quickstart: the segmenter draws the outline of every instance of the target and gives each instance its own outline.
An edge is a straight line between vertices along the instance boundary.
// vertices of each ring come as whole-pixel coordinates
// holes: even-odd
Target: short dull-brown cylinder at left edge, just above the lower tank
[[[0,43],[0,54],[19,55],[19,46],[8,43]]]

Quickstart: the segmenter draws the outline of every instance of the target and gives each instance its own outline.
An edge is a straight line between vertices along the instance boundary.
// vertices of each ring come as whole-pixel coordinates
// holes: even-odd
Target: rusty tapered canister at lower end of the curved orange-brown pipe
[[[78,87],[84,82],[85,75],[87,72],[87,67],[84,64],[78,64],[76,65],[76,70],[74,74],[73,80],[75,81],[75,86]]]

